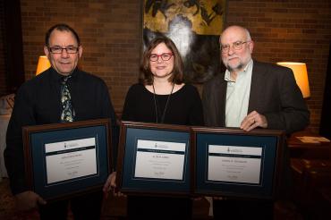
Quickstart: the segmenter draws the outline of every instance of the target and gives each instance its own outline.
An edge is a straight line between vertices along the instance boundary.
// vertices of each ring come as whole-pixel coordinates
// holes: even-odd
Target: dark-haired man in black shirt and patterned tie
[[[82,47],[76,31],[66,24],[56,24],[47,31],[45,40],[44,52],[52,66],[23,83],[18,90],[8,125],[4,158],[11,189],[20,209],[38,207],[41,219],[67,219],[69,200],[46,203],[27,188],[21,128],[109,118],[114,146],[118,128],[106,83],[77,68]],[[100,190],[70,199],[74,218],[98,219],[102,197]]]

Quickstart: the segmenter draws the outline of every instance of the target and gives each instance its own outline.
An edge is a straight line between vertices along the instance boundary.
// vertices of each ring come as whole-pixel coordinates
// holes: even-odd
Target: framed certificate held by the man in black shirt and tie
[[[100,190],[111,169],[109,119],[23,127],[30,190],[54,200]]]

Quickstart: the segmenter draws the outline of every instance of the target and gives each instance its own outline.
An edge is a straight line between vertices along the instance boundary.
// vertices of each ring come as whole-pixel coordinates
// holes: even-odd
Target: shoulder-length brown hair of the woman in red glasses
[[[152,50],[161,43],[165,43],[165,46],[168,47],[168,49],[170,49],[171,52],[174,54],[174,69],[172,72],[172,76],[169,78],[169,81],[174,82],[175,84],[181,84],[183,81],[182,56],[180,55],[177,47],[174,45],[174,42],[170,38],[166,38],[165,36],[159,36],[149,42],[148,47],[142,55],[139,82],[143,85],[151,85],[153,83],[153,73],[150,71],[149,56]]]

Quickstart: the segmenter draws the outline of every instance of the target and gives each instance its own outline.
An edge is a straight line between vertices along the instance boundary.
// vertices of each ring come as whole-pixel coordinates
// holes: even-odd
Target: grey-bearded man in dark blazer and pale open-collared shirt
[[[287,134],[304,129],[310,113],[293,72],[282,66],[260,63],[251,58],[254,42],[240,26],[226,28],[220,39],[220,53],[226,71],[205,83],[202,103],[208,126],[284,130]],[[281,190],[290,190],[289,160],[284,150]],[[272,219],[273,202],[214,199],[218,218]]]

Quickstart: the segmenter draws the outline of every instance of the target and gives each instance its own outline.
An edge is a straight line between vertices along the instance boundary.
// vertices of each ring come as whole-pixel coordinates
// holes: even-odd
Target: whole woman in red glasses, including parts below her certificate
[[[139,83],[132,85],[126,95],[122,120],[204,124],[198,90],[183,82],[182,57],[171,39],[157,37],[149,43],[142,57]],[[105,190],[110,185],[107,183]],[[191,219],[190,198],[128,196],[127,199],[129,219]]]

